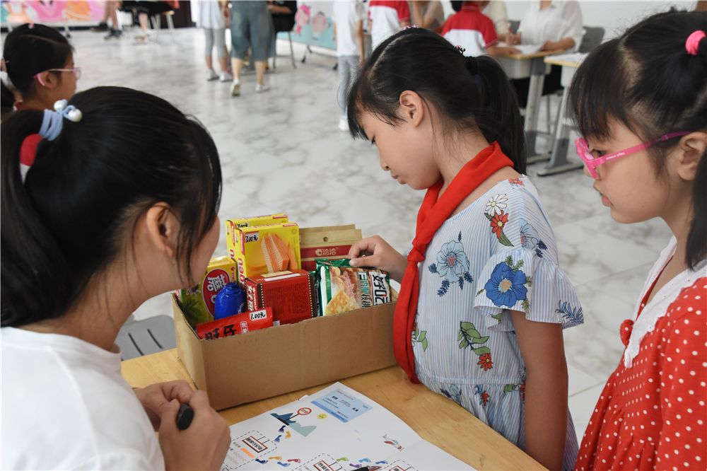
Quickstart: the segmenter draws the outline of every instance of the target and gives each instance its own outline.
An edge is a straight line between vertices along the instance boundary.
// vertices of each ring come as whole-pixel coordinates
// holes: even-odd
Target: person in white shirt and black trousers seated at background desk
[[[575,52],[579,49],[583,35],[582,10],[578,1],[539,0],[528,6],[520,21],[518,34],[508,34],[507,42],[509,45],[542,45],[543,51]],[[561,66],[552,66],[550,74],[545,76],[543,95],[562,88],[561,74]],[[518,103],[524,108],[527,105],[530,79],[514,79],[511,82],[518,93]]]

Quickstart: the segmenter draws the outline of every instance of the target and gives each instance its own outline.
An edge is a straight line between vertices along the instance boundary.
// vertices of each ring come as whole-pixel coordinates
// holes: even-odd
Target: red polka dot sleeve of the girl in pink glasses
[[[704,469],[707,463],[707,277],[670,305],[678,315],[662,344],[660,410],[663,427],[656,469]]]

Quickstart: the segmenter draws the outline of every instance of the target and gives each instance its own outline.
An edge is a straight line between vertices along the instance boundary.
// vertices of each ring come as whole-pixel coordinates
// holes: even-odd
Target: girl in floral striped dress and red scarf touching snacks
[[[351,134],[392,178],[426,190],[406,257],[376,236],[357,267],[401,281],[393,344],[414,382],[472,412],[549,469],[577,455],[562,330],[583,322],[525,171],[508,77],[409,28],[373,52],[349,93]]]

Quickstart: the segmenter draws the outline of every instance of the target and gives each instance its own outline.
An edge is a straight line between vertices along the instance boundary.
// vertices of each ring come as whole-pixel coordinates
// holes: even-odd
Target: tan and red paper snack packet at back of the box
[[[300,228],[302,269],[312,272],[317,258],[338,260],[349,257],[351,244],[361,240],[361,229],[354,224]]]

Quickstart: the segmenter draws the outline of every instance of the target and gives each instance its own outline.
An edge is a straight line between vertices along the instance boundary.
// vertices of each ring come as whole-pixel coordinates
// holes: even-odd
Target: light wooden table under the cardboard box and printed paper
[[[177,359],[176,349],[122,363],[123,377],[134,388],[191,378]],[[397,366],[341,380],[378,402],[407,423],[419,436],[478,470],[542,470],[542,465],[451,400],[423,385],[411,384]],[[290,392],[221,411],[228,424],[299,400],[327,385]]]

